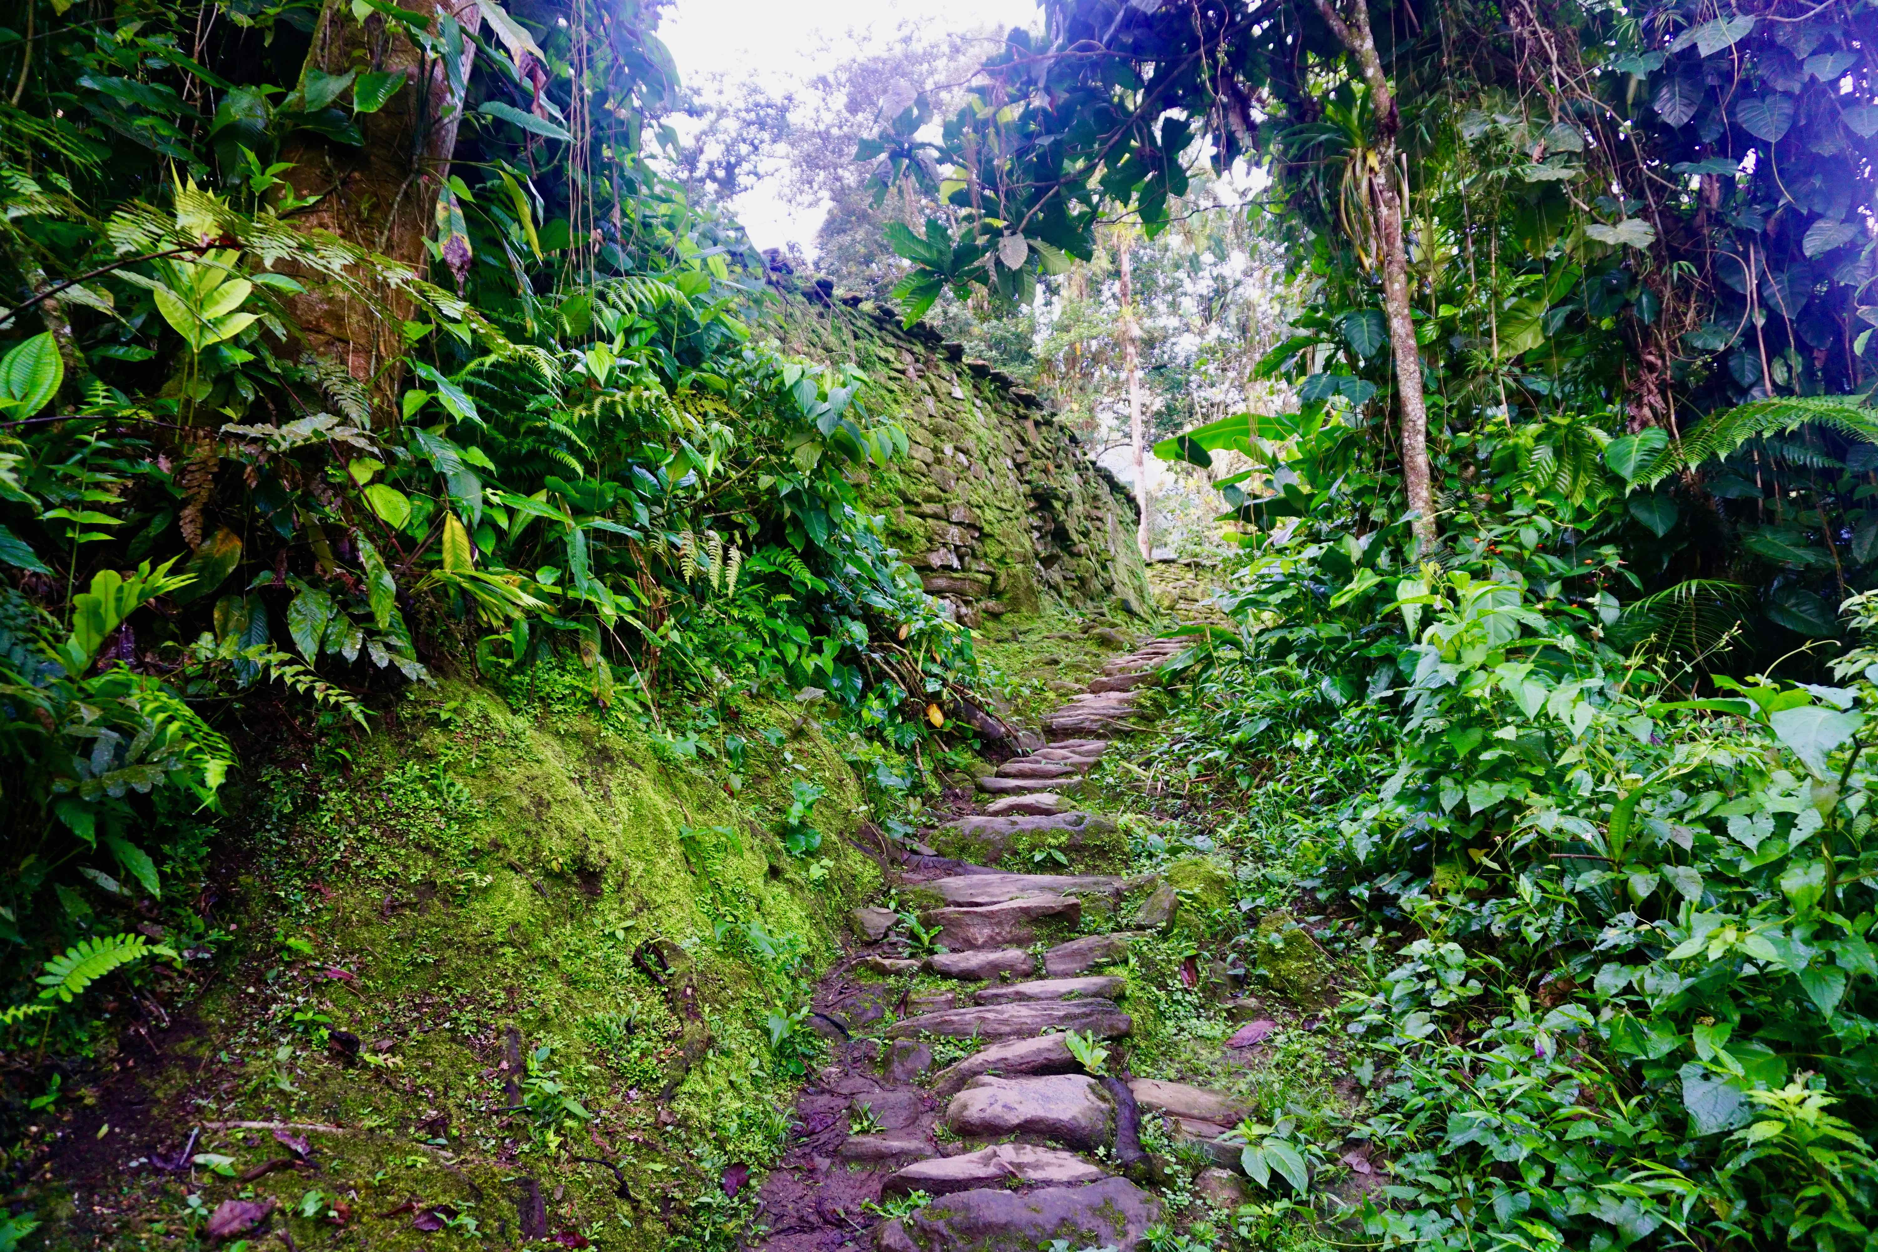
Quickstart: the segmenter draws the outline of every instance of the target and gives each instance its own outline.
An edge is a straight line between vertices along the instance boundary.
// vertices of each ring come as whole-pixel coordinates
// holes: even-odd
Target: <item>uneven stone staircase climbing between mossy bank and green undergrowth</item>
[[[1157,640],[1104,666],[1085,695],[1050,713],[1050,745],[980,779],[982,813],[941,833],[997,850],[1022,833],[1106,826],[1069,798],[1110,751],[1108,736],[1136,728],[1129,719],[1138,689],[1178,649]],[[1067,1239],[1070,1248],[1131,1252],[1161,1216],[1161,1201],[1140,1186],[1151,1169],[1136,1134],[1144,1113],[1168,1117],[1179,1137],[1234,1160],[1239,1145],[1223,1136],[1245,1109],[1223,1092],[1129,1079],[1123,1062],[1132,1031],[1121,1002],[1127,984],[1099,970],[1125,959],[1138,937],[1121,918],[1146,888],[1112,875],[909,858],[896,890],[922,925],[939,927],[945,952],[903,955],[888,940],[892,912],[856,912],[856,931],[871,942],[815,997],[838,1038],[798,1100],[800,1137],[764,1184],[762,1246],[943,1252]],[[1085,914],[1093,925],[1084,925]],[[1136,905],[1132,924],[1161,925],[1170,914],[1162,886]],[[960,985],[915,997],[901,984],[856,980],[854,967]],[[1085,1074],[1067,1031],[1119,1042],[1110,1072]],[[935,1044],[954,1040],[969,1047],[935,1064]],[[935,1199],[903,1218],[881,1216],[913,1192]]]

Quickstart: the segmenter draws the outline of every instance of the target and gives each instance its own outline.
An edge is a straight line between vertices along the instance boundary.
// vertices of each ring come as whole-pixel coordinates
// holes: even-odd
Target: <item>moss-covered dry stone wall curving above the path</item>
[[[911,456],[873,475],[864,496],[962,621],[1033,614],[1046,599],[1153,612],[1129,490],[1035,392],[926,327],[901,328],[888,306],[836,295],[828,280],[770,278],[785,345],[860,366],[868,411],[905,428]]]

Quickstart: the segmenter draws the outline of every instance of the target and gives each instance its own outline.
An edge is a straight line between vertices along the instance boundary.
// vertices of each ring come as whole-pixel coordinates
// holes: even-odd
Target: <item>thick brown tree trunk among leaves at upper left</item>
[[[468,83],[475,62],[470,36],[483,23],[475,0],[404,0],[406,8],[428,11],[434,19],[454,17],[464,30],[458,83]],[[398,23],[372,13],[353,19],[349,0],[327,0],[314,47],[300,71],[304,86],[310,71],[346,73],[374,69],[402,73],[406,83],[377,113],[359,113],[355,122],[364,145],[331,143],[300,131],[282,150],[293,161],[287,180],[295,195],[321,199],[295,216],[297,223],[332,231],[361,248],[370,248],[423,274],[428,252],[424,240],[436,221],[438,191],[449,175],[462,122],[462,96],[451,83],[441,58],[428,60]],[[411,302],[370,278],[361,283],[372,298],[349,297],[331,287],[310,287],[287,302],[299,325],[299,347],[334,360],[355,379],[372,385],[374,407],[387,405],[398,390],[398,362],[404,355],[402,325]]]

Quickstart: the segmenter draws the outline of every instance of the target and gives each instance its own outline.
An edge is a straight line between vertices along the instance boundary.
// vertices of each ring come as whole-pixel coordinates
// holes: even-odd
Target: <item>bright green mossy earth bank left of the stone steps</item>
[[[535,678],[515,704],[470,681],[413,691],[379,734],[246,783],[231,807],[257,854],[227,884],[237,914],[193,1029],[133,1083],[135,1061],[116,1059],[111,1098],[49,1113],[85,1143],[66,1160],[101,1175],[34,1198],[49,1246],[192,1248],[229,1198],[278,1201],[306,1248],[432,1246],[432,1211],[471,1243],[513,1244],[524,1179],[548,1233],[597,1246],[746,1233],[753,1192],[729,1196],[725,1169],[774,1158],[800,1072],[768,1017],[879,886],[851,839],[862,785],[798,706],[729,710],[747,741],[732,798],[729,762],[695,740],[558,698],[577,672]],[[793,779],[826,788],[811,856],[768,828]],[[655,940],[689,957],[695,1023],[646,957]],[[111,1126],[126,1083],[145,1104]],[[293,1153],[229,1122],[340,1130],[295,1132],[308,1162],[240,1181]],[[192,1126],[203,1164],[150,1169]]]

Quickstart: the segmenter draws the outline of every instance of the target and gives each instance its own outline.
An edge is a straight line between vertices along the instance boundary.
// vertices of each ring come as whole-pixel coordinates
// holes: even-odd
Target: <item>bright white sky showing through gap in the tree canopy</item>
[[[721,73],[729,81],[800,90],[843,53],[901,23],[945,32],[1035,21],[1035,0],[678,0],[665,11],[659,36],[689,86]],[[738,197],[732,208],[759,248],[794,240],[813,255],[821,208],[787,205],[768,184]]]

